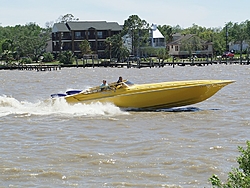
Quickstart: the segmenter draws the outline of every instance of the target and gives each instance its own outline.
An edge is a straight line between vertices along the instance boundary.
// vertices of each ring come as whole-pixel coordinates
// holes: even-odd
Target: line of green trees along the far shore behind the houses
[[[57,22],[77,21],[72,14],[61,16]],[[179,25],[158,25],[157,28],[165,37],[166,42],[173,39],[175,33],[193,34],[197,40],[193,40],[192,48],[198,48],[200,41],[212,42],[214,55],[220,55],[228,50],[228,44],[237,43],[240,45],[239,54],[248,54],[248,49],[243,50],[243,43],[250,44],[250,21],[241,23],[228,22],[220,28],[206,28],[193,24],[189,28],[181,28]],[[150,47],[149,31],[151,25],[141,19],[138,15],[131,15],[124,21],[123,29],[120,34],[108,37],[105,41],[105,52],[109,59],[115,58],[117,61],[123,61],[129,55],[147,56],[155,55],[164,60],[168,57],[166,49],[155,49]],[[7,64],[12,61],[23,63],[45,61],[51,62],[55,59],[54,55],[46,52],[46,46],[51,39],[52,23],[47,23],[46,28],[40,27],[36,23],[16,26],[0,26],[0,59]],[[124,45],[123,37],[128,36],[131,39],[131,49]],[[185,46],[185,45],[183,45]],[[91,48],[88,41],[80,44],[82,55],[90,54]],[[192,49],[191,49],[192,50]],[[72,61],[74,54],[72,52],[62,52],[58,59],[64,63]]]

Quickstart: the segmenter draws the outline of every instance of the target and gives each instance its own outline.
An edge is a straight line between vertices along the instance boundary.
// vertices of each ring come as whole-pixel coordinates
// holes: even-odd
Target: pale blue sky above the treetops
[[[107,21],[124,24],[131,15],[150,25],[181,28],[193,24],[224,27],[227,22],[250,20],[250,0],[0,0],[0,26],[30,22],[45,27],[60,16],[72,14],[79,21]]]

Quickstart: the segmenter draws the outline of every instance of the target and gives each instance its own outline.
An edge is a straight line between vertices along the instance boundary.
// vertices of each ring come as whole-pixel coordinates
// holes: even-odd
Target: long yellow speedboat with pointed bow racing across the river
[[[113,103],[121,108],[172,108],[204,101],[233,82],[235,81],[191,80],[133,84],[124,80],[105,87],[93,87],[84,91],[68,91],[67,94],[60,96],[69,103],[99,101]],[[55,94],[51,96],[54,97]]]

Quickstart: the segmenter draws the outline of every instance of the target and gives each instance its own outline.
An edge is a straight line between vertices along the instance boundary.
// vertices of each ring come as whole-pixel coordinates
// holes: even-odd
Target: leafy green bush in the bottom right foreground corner
[[[248,188],[250,185],[250,141],[246,142],[247,148],[238,147],[241,155],[237,158],[238,168],[233,168],[228,173],[227,182],[223,183],[217,175],[209,178],[213,187],[217,188]]]

